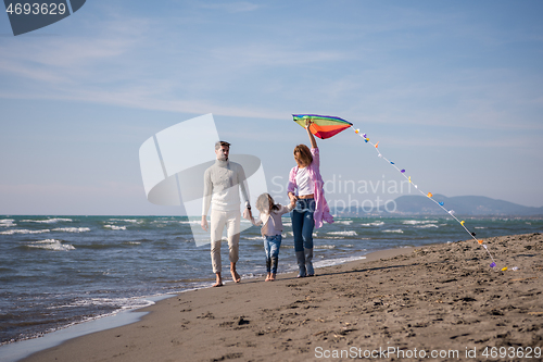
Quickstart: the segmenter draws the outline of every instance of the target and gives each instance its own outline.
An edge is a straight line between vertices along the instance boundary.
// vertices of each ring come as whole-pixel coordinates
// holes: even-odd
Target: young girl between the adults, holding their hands
[[[281,215],[294,209],[295,203],[291,200],[288,207],[275,203],[269,194],[262,194],[256,200],[256,209],[261,212],[258,221],[251,216],[255,226],[262,225],[261,233],[264,237],[264,249],[266,250],[266,282],[274,282],[279,262],[279,248],[281,247],[282,222]]]

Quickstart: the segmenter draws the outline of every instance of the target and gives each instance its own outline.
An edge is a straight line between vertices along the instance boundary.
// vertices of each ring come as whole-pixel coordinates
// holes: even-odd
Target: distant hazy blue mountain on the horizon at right
[[[454,210],[462,215],[543,215],[543,208],[523,207],[517,203],[495,200],[484,196],[455,196],[447,198],[443,195],[434,195],[433,199],[444,202],[446,210]],[[432,215],[444,213],[438,204],[425,196],[407,195],[394,200],[396,210],[392,214],[418,214]],[[388,210],[392,210],[388,205]]]

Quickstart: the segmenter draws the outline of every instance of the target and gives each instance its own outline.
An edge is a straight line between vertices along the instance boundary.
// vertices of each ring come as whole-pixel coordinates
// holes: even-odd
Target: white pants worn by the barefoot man
[[[220,273],[220,240],[226,226],[228,238],[228,257],[231,263],[237,263],[239,259],[239,233],[241,214],[239,210],[215,211],[211,210],[211,263],[213,273]]]

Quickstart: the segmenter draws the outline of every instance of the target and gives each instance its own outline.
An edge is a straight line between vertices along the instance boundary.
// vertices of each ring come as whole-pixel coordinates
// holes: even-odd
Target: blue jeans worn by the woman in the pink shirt
[[[313,249],[313,228],[315,220],[315,199],[299,199],[291,212],[292,232],[294,233],[294,251]]]

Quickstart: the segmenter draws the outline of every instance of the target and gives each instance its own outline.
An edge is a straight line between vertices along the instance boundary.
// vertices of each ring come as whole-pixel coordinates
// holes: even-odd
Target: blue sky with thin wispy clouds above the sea
[[[316,113],[352,122],[425,191],[542,207],[542,11],[89,0],[16,37],[0,14],[0,214],[182,214],[147,200],[138,152],[207,113],[279,202],[308,145],[292,114]],[[418,195],[351,129],[317,142],[331,205]]]

